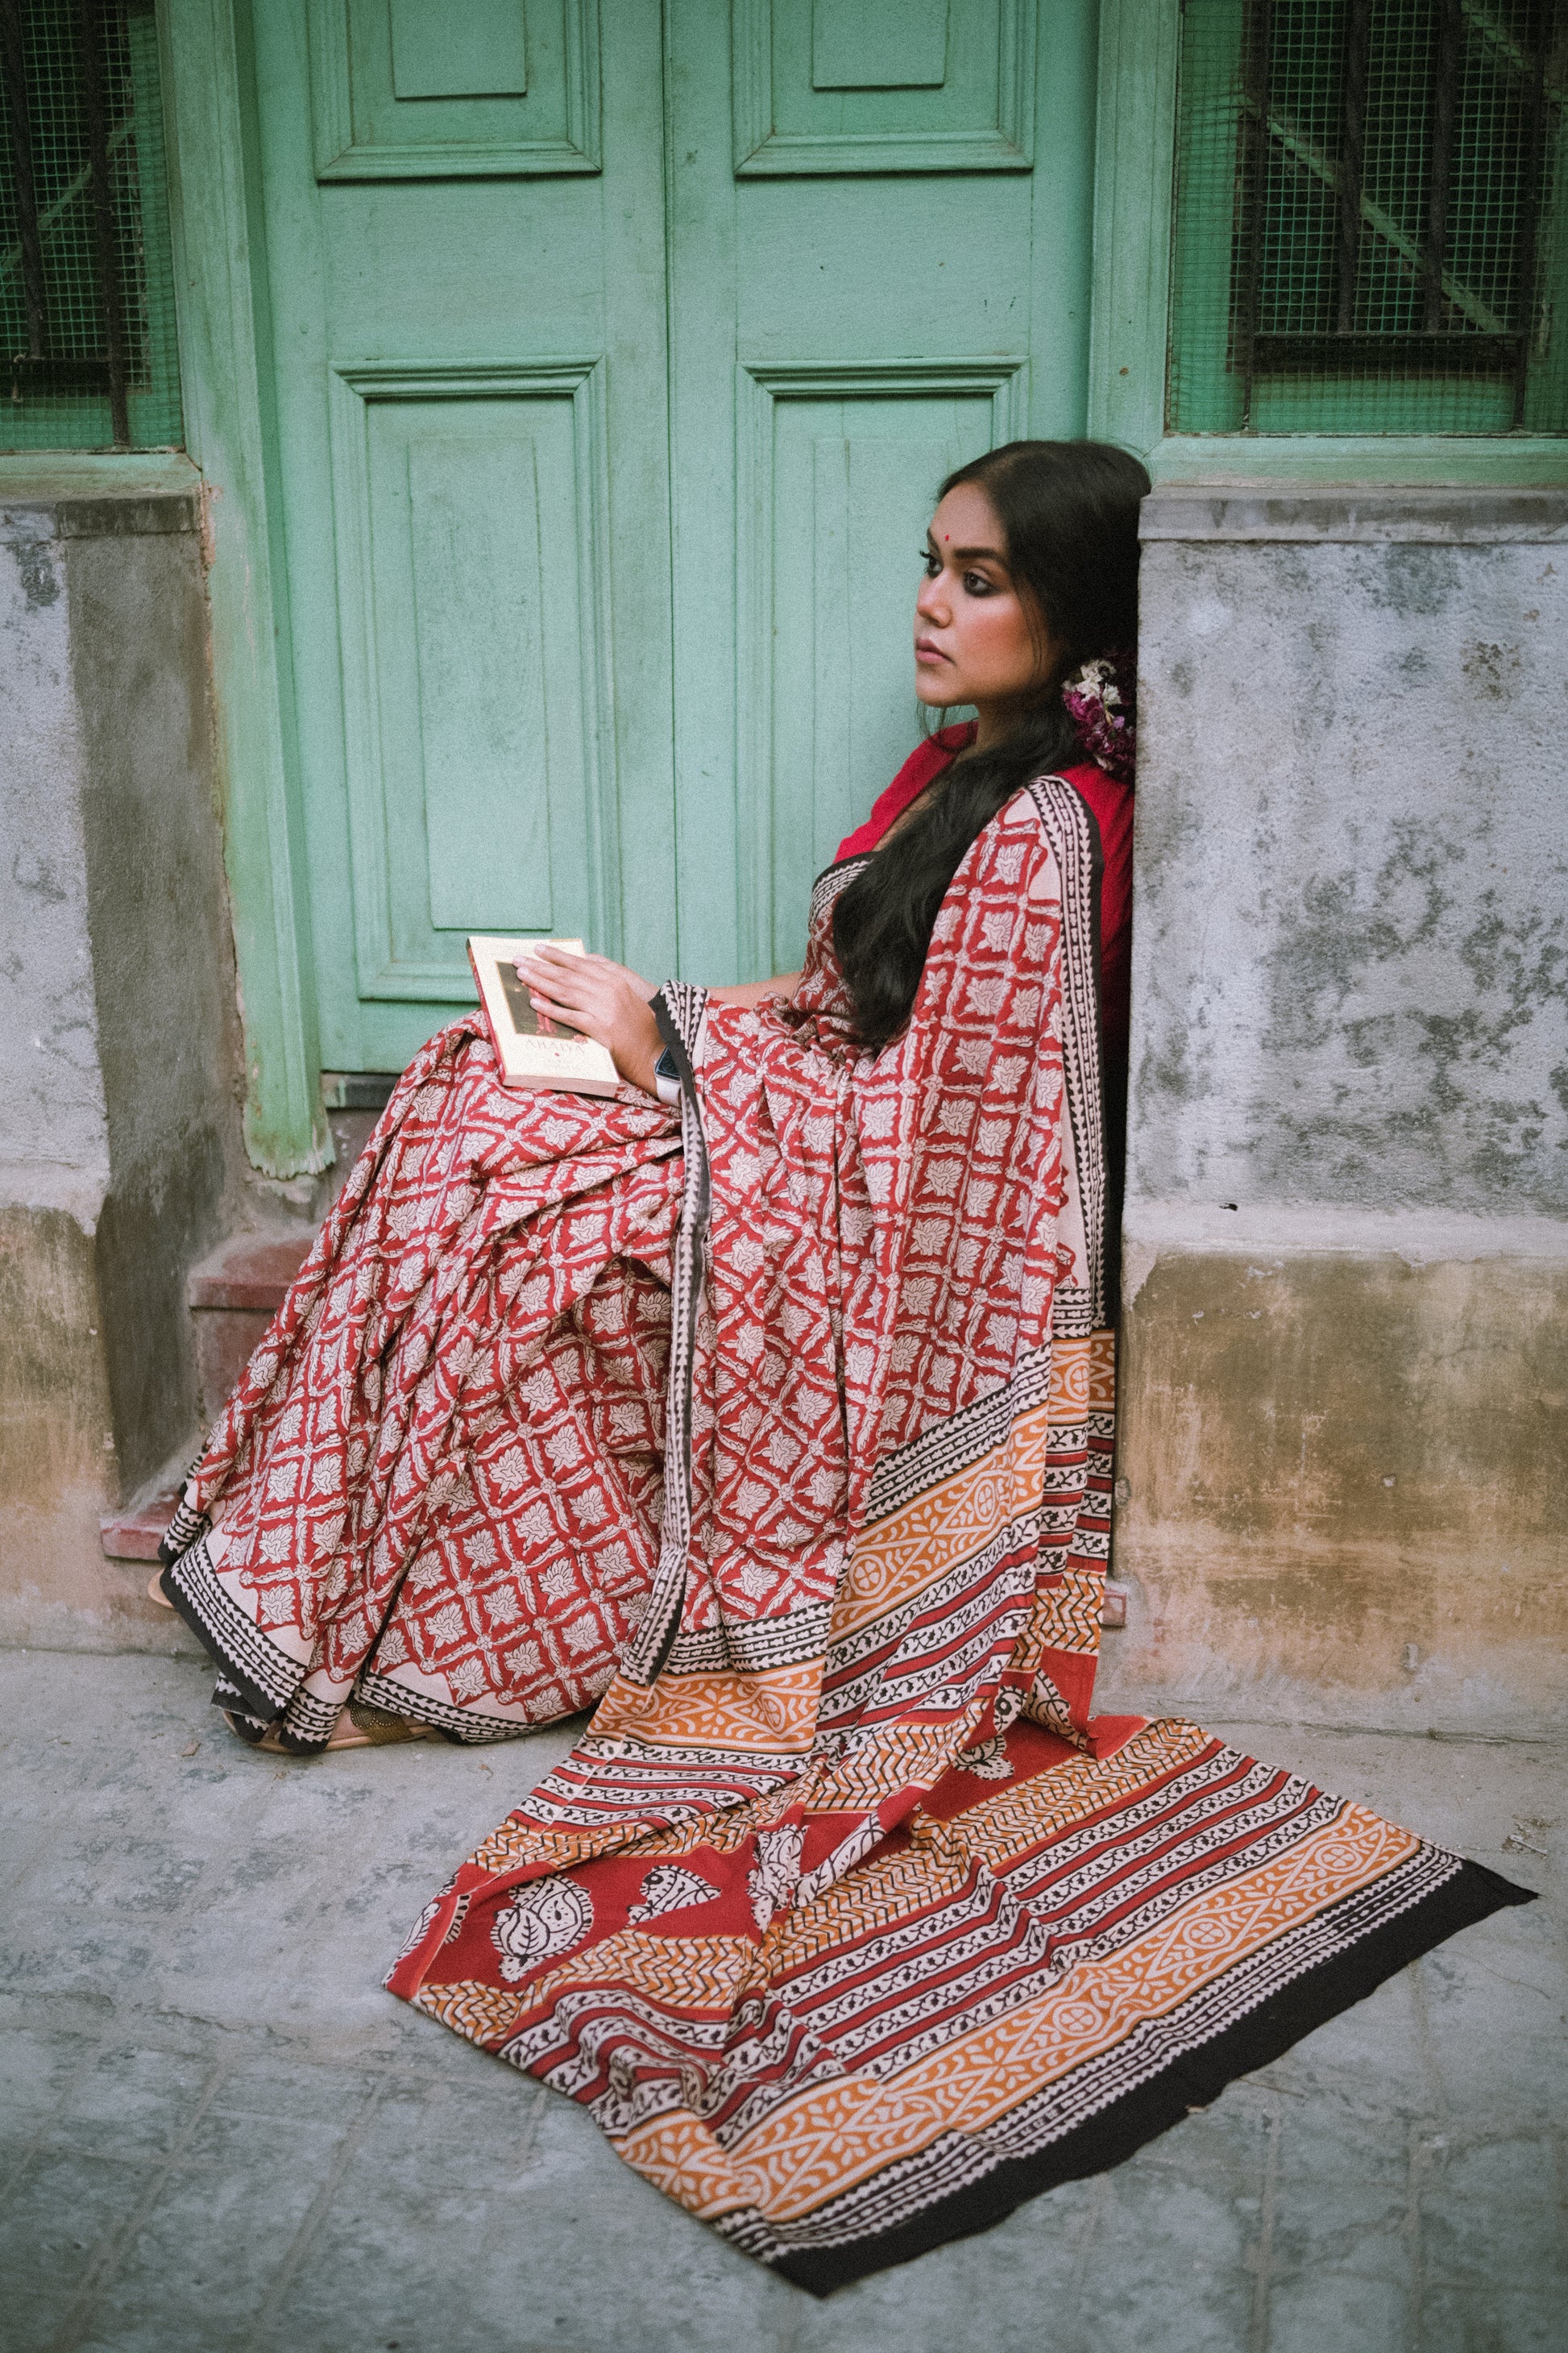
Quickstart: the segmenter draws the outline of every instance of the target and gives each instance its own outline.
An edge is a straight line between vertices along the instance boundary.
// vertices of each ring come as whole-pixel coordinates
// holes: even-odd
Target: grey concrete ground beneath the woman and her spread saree
[[[181,1659],[0,1654],[5,2353],[1556,2353],[1561,1753],[1225,1722],[1549,1901],[1098,2181],[825,2304],[381,1974],[564,1748],[244,1751]]]

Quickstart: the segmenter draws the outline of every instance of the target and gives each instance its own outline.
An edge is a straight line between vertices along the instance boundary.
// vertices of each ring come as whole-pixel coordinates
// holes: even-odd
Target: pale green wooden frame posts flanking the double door
[[[1150,155],[1147,134],[1161,111],[1166,68],[1152,75],[1159,89],[1145,89],[1150,66],[1138,35],[1147,38],[1157,19],[1161,59],[1166,45],[1173,56],[1178,5],[1100,0],[1091,402],[1110,362],[1114,318],[1126,308],[1133,249],[1150,273],[1147,292],[1164,289],[1168,221],[1159,216],[1159,191],[1168,181]],[[158,0],[158,26],[186,445],[205,478],[216,765],[244,1031],[244,1146],[263,1174],[289,1179],[324,1169],[331,1139],[320,1089],[306,889],[252,0]],[[1138,381],[1126,386],[1133,398],[1114,419],[1091,407],[1091,431],[1131,442],[1147,431],[1164,299],[1140,306],[1140,322]],[[679,807],[675,821],[677,835],[684,833]]]

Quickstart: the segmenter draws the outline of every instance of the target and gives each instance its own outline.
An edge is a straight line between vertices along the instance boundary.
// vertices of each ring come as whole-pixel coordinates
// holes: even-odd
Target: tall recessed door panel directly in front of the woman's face
[[[752,962],[799,965],[806,889],[922,732],[912,614],[936,487],[1006,440],[1018,362],[745,369],[741,744]]]

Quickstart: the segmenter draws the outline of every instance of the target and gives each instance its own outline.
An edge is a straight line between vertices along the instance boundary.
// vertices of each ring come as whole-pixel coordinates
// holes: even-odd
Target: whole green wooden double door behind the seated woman
[[[1091,0],[254,12],[322,1061],[799,960],[938,478],[1086,407]]]

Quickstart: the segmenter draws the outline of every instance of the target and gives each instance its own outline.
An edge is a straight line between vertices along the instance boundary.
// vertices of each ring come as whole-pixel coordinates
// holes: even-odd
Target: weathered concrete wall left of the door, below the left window
[[[99,1515],[193,1442],[242,1191],[193,468],[0,475],[0,1635],[167,1642]]]

